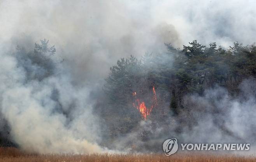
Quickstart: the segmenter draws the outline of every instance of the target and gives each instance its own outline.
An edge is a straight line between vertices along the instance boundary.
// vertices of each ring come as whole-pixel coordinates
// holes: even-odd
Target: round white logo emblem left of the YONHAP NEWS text
[[[176,138],[167,139],[163,142],[163,151],[166,156],[170,156],[177,152],[178,150],[178,141]]]

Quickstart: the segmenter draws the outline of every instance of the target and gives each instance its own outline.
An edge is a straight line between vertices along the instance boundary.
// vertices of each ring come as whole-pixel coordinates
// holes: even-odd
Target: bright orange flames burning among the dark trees
[[[152,90],[153,90],[153,102],[152,102],[152,105],[148,108],[146,107],[146,104],[144,101],[137,99],[137,92],[132,93],[132,96],[135,97],[135,102],[133,103],[133,106],[140,111],[144,120],[147,120],[147,116],[150,115],[152,109],[157,107],[156,90],[154,86]]]

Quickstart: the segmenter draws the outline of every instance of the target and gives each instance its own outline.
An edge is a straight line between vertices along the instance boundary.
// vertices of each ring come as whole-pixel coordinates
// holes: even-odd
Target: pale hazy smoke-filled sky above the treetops
[[[163,52],[164,42],[251,44],[255,7],[253,0],[1,0],[0,41],[32,46],[47,38],[75,78],[88,80],[105,77],[120,57]]]

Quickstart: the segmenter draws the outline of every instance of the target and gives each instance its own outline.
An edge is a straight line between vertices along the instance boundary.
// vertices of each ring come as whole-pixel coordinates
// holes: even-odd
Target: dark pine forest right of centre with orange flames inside
[[[244,93],[243,80],[251,79],[252,84],[255,83],[255,44],[244,46],[234,42],[233,46],[223,49],[216,42],[206,46],[194,40],[188,46],[183,45],[183,49],[175,49],[171,44],[166,47],[167,53],[147,53],[141,58],[131,55],[110,68],[103,88],[108,96],[104,102],[108,106],[104,106],[102,117],[109,124],[111,138],[135,130],[139,130],[137,138],[142,141],[159,138],[153,135],[156,128],[170,123],[175,126],[163,126],[166,130],[162,134],[172,130],[177,135],[185,131],[184,127],[192,129],[199,125],[198,118],[207,116],[206,112],[215,115],[214,124],[224,134],[239,138],[219,117],[230,111],[229,101],[222,106],[218,103],[225,95],[232,100]],[[204,98],[200,104],[200,96],[203,98],[209,89],[217,88],[221,90],[210,92],[212,96]],[[255,86],[251,91],[248,94],[255,97]],[[196,95],[197,99],[189,95]],[[205,100],[209,103],[204,103]],[[251,106],[255,110],[255,105]],[[151,124],[145,128],[139,125],[141,120]]]

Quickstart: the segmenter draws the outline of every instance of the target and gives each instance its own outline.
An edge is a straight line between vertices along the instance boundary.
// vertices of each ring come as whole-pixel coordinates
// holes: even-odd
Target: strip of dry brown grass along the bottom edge
[[[256,157],[234,155],[174,154],[86,154],[38,155],[21,152],[16,148],[0,148],[0,162],[256,162]]]

